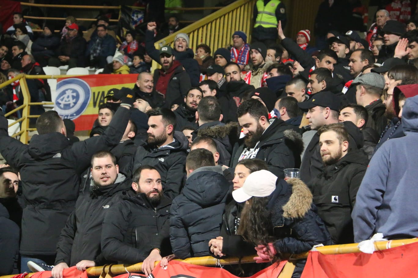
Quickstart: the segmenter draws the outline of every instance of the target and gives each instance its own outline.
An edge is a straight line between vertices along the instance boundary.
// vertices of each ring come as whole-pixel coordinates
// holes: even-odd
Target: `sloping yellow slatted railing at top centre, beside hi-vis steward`
[[[155,42],[155,48],[172,45],[178,33],[189,35],[189,48],[196,50],[196,46],[205,43],[212,53],[218,48],[231,44],[232,34],[241,30],[247,34],[247,41],[251,41],[252,12],[255,0],[238,0],[234,3],[178,30],[162,40]],[[172,45],[173,46],[173,45]],[[161,68],[157,61],[153,61],[153,69]]]

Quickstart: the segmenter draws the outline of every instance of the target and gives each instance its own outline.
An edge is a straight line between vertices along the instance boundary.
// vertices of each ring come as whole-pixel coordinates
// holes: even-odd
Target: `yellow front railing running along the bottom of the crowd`
[[[410,243],[418,242],[418,238],[410,239],[400,239],[400,240],[391,240],[390,244],[388,241],[377,241],[375,242],[375,250],[381,251],[388,248],[394,248],[401,245],[406,245]],[[351,244],[341,244],[341,245],[327,245],[322,247],[317,247],[317,251],[321,252],[324,255],[336,255],[336,254],[347,254],[347,253],[360,253],[359,248],[357,247],[358,243]],[[199,257],[199,258],[188,258],[185,260],[176,259],[184,263],[190,263],[193,265],[202,265],[202,266],[217,266],[217,265],[236,265],[238,263],[254,263],[254,256],[246,256],[241,258],[226,258],[222,260],[217,260],[213,257]],[[307,258],[308,252],[291,255],[288,262],[285,264],[282,272],[278,275],[277,278],[291,278],[293,270],[295,269],[295,262],[297,259]],[[157,265],[158,262],[155,262]],[[87,268],[87,276],[100,276],[101,278],[111,278],[123,273],[140,273],[142,272],[142,263],[135,264],[110,264],[103,266],[94,266]],[[27,278],[31,277],[33,273],[29,273]],[[14,275],[5,275],[0,276],[0,278],[11,278]]]

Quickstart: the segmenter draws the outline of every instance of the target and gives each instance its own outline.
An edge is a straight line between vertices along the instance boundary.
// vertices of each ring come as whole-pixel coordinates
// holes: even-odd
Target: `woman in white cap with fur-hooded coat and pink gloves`
[[[314,245],[331,245],[324,222],[316,214],[311,191],[301,180],[278,179],[267,170],[248,175],[232,192],[244,203],[237,234],[257,246],[257,263],[277,261],[283,254],[299,254]],[[292,277],[300,277],[306,259],[298,260]]]

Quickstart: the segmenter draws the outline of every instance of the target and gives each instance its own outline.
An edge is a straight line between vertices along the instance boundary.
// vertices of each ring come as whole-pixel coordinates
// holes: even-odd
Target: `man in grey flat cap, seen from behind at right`
[[[385,87],[385,78],[378,73],[366,73],[354,79],[353,85],[357,89],[357,104],[366,108],[369,115],[366,127],[373,128],[377,134],[382,134],[387,125],[386,107],[380,99]]]

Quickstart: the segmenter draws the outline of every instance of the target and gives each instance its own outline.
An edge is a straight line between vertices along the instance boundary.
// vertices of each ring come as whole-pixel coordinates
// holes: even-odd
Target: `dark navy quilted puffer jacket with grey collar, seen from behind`
[[[170,242],[176,257],[210,255],[208,243],[219,236],[228,190],[219,165],[201,167],[189,175],[171,206]]]

